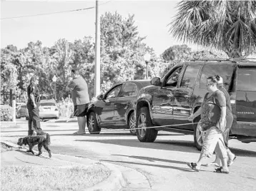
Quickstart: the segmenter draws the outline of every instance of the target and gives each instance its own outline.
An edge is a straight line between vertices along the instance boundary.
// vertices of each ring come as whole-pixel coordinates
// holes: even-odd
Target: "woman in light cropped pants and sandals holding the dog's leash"
[[[215,151],[222,161],[222,167],[215,169],[218,173],[229,173],[227,167],[227,150],[222,137],[226,127],[226,98],[224,93],[217,88],[217,78],[211,76],[205,83],[208,93],[199,110],[189,117],[193,120],[201,114],[201,126],[204,131],[204,139],[200,158],[197,162],[189,162],[187,165],[199,172],[202,161],[210,158]]]

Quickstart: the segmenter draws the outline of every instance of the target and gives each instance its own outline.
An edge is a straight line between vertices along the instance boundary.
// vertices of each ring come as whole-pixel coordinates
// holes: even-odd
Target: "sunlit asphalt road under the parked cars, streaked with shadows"
[[[17,123],[19,128],[1,128],[2,139],[16,143],[19,137],[26,135],[26,120]],[[119,165],[120,169],[137,170],[147,183],[131,190],[256,190],[256,143],[230,140],[230,149],[237,160],[230,167],[230,174],[225,175],[213,172],[214,167],[202,166],[200,172],[187,167],[187,162],[196,162],[200,155],[193,145],[192,135],[159,132],[154,143],[140,143],[127,130],[103,129],[99,135],[72,135],[77,130],[77,123],[45,122],[41,125],[51,135],[52,153],[101,160]],[[124,177],[132,180],[131,173],[125,175],[124,172]]]

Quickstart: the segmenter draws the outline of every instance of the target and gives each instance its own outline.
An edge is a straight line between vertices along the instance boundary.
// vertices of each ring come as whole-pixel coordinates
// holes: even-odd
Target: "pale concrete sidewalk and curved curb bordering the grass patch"
[[[27,153],[27,148],[20,147],[14,143],[1,141],[1,144],[5,145],[6,148],[12,150],[6,150],[1,152],[1,167],[6,166],[42,166],[42,167],[70,167],[74,165],[90,166],[95,163],[99,163],[97,160],[90,160],[87,158],[77,158],[69,155],[52,154],[49,158],[48,153],[43,152],[39,157]],[[37,151],[35,152],[37,153]],[[99,182],[93,187],[87,188],[87,190],[120,190],[126,185],[122,172],[117,167],[109,163],[100,162],[106,166],[111,172],[109,177],[102,182]]]

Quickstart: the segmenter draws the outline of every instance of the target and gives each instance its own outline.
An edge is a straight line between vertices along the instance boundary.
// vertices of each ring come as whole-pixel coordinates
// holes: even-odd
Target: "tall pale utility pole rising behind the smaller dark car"
[[[95,23],[95,67],[94,67],[94,96],[100,93],[100,28],[99,28],[99,5],[96,0],[96,23]]]

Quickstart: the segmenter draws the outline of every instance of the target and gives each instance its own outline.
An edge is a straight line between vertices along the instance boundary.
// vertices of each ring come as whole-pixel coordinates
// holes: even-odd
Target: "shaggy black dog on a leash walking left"
[[[38,144],[38,150],[39,153],[36,156],[41,155],[41,148],[44,146],[44,149],[48,151],[49,153],[49,158],[51,158],[51,150],[49,150],[48,146],[50,145],[51,140],[50,140],[50,135],[48,133],[46,133],[46,137],[44,135],[36,135],[36,136],[27,136],[24,138],[19,138],[18,140],[18,145],[29,145],[29,150],[26,150],[26,152],[32,153],[34,155],[33,152],[33,147],[34,145]]]

